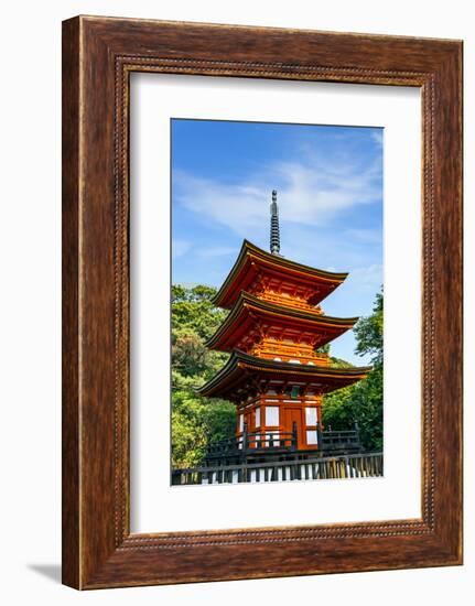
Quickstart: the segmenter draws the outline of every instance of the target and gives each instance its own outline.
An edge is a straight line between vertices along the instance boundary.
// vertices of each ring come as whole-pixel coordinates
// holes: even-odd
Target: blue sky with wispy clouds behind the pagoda
[[[172,281],[219,286],[242,239],[269,250],[278,191],[281,253],[349,272],[322,306],[371,313],[382,284],[382,129],[172,120]],[[354,364],[349,332],[332,355]]]

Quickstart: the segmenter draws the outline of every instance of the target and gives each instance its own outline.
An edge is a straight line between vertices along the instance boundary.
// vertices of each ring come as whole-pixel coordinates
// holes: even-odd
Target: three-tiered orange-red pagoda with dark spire
[[[270,252],[245,240],[214,299],[230,310],[207,346],[229,351],[228,362],[199,392],[237,407],[237,443],[271,453],[320,447],[323,396],[365,378],[370,367],[336,368],[323,346],[353,327],[357,317],[325,315],[320,303],[347,277],[280,255],[277,192],[272,192]]]

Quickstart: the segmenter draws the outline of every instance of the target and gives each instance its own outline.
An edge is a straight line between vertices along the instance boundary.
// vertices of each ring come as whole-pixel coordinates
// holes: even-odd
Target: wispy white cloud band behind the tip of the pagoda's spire
[[[175,170],[175,199],[206,221],[216,221],[241,237],[252,238],[253,228],[269,217],[270,192],[279,192],[285,223],[327,225],[342,212],[380,197],[380,163],[358,163],[309,156],[306,162],[265,166],[260,174],[240,184],[223,183]]]

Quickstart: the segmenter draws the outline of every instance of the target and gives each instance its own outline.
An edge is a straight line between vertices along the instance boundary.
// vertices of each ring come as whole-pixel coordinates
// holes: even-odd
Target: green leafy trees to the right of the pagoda
[[[373,314],[355,326],[356,353],[371,355],[373,370],[366,379],[338,389],[324,398],[323,423],[333,430],[348,429],[356,421],[361,442],[368,451],[382,450],[382,293],[376,295]],[[332,358],[335,366],[347,365]]]

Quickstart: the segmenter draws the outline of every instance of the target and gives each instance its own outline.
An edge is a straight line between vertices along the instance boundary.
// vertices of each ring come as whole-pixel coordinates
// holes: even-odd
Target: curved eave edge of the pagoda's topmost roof
[[[237,278],[239,278],[240,270],[242,269],[249,256],[252,256],[258,261],[259,260],[262,261],[263,266],[267,266],[267,267],[271,266],[282,271],[287,271],[288,273],[290,272],[299,277],[299,279],[302,281],[309,280],[312,282],[326,283],[330,286],[330,290],[324,296],[322,296],[320,301],[322,301],[325,296],[327,296],[327,294],[330,294],[332,290],[338,286],[348,275],[348,273],[336,273],[336,272],[325,271],[325,270],[312,268],[310,266],[305,266],[303,263],[298,263],[296,261],[290,261],[284,257],[279,257],[277,255],[272,255],[271,252],[267,252],[266,250],[262,250],[261,248],[249,242],[249,240],[244,240],[235,264],[233,266],[226,280],[223,282],[222,288],[212,300],[216,306],[218,307],[229,306],[225,302],[226,296],[228,294],[228,291],[231,284],[236,281]]]

